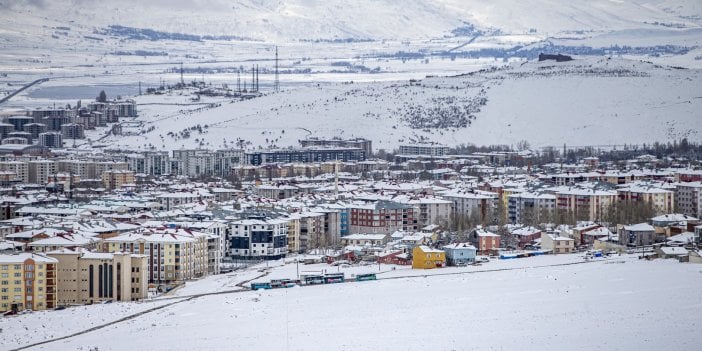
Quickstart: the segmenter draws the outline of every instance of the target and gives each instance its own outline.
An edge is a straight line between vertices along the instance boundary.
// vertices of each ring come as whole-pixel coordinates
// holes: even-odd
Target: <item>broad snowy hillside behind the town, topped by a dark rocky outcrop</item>
[[[430,140],[458,145],[621,145],[702,140],[702,72],[632,60],[513,63],[418,82],[302,87],[249,101],[142,96],[132,149],[296,145],[306,136],[365,137],[377,149]],[[201,102],[202,103],[202,102]],[[200,125],[200,128],[197,126]],[[93,135],[93,139],[97,139]]]

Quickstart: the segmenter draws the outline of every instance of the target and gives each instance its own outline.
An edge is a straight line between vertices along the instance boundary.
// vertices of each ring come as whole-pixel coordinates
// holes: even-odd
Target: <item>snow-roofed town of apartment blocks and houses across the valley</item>
[[[124,100],[4,119],[0,311],[149,300],[289,258],[328,269],[242,283],[375,280],[335,272],[542,255],[702,263],[700,146],[687,140],[621,150],[376,152],[373,140],[319,137],[280,149],[64,147],[84,128],[118,133],[115,122],[136,116]]]

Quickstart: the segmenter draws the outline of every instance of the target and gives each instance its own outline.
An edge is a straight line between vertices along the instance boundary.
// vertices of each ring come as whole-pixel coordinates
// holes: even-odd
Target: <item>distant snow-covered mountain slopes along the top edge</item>
[[[480,31],[557,35],[699,28],[696,0],[2,0],[4,33],[33,25],[123,25],[168,32],[297,39],[429,39]]]

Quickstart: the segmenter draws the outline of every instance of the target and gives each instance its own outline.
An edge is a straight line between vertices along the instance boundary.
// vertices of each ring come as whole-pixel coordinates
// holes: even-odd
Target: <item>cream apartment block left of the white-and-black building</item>
[[[149,283],[173,284],[207,275],[208,235],[180,228],[149,229],[105,239],[108,252],[146,255]]]

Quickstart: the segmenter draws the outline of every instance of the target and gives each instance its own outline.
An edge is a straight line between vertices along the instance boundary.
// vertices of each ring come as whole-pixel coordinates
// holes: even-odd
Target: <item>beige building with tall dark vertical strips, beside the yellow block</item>
[[[147,297],[148,265],[144,255],[68,249],[47,255],[58,261],[59,305],[137,301]]]

